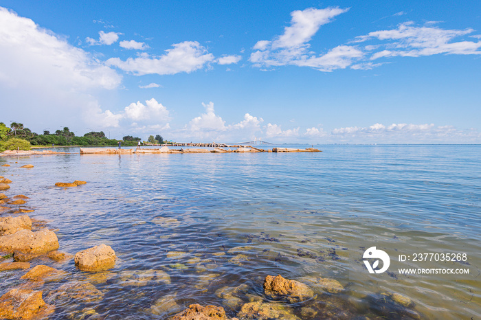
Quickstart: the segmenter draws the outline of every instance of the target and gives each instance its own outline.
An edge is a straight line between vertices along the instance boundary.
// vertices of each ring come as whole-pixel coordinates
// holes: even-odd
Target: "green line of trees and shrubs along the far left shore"
[[[0,152],[3,152],[5,149],[13,150],[13,148],[16,149],[16,147],[25,150],[26,145],[118,146],[119,141],[122,141],[122,146],[137,146],[141,140],[142,139],[139,137],[133,137],[132,135],[126,135],[122,140],[109,139],[105,136],[103,131],[91,131],[85,133],[83,136],[76,136],[68,127],[64,127],[63,130],[56,130],[55,133],[50,133],[49,130],[44,130],[43,134],[38,135],[38,133],[34,133],[29,128],[25,128],[25,126],[19,122],[12,122],[10,128],[3,122],[0,122]],[[7,144],[7,141],[10,141],[10,143]],[[28,142],[28,144],[25,144],[23,141]],[[166,142],[167,141],[164,141],[164,138],[161,137],[161,135],[156,135],[155,137],[150,135],[150,137],[148,137],[148,143],[150,144],[164,144]],[[146,141],[144,141],[144,143],[146,143]]]

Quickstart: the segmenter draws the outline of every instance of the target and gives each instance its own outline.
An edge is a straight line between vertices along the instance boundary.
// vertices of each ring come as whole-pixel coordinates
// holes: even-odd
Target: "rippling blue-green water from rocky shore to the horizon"
[[[277,274],[300,281],[322,275],[346,289],[286,304],[299,319],[326,317],[301,309],[331,300],[346,319],[414,315],[383,306],[379,293],[410,297],[423,319],[480,318],[481,146],[317,148],[323,152],[121,156],[68,148],[67,155],[0,158],[12,165],[0,175],[13,181],[8,194],[30,196],[32,218],[57,229],[60,251],[105,243],[118,255],[100,280],[73,260],[34,260],[69,272],[42,284],[44,297],[74,280],[103,293],[58,304],[52,319],[85,308],[101,319],[165,319],[192,303],[224,306],[234,317],[240,307],[216,290],[247,284],[250,295],[267,299],[262,281]],[[34,168],[19,168],[27,163]],[[54,187],[74,180],[87,185]],[[390,255],[386,273],[371,275],[363,265],[363,252],[374,246]],[[399,262],[399,254],[414,253],[467,253],[467,261]],[[398,272],[434,266],[468,268],[469,275]],[[0,294],[22,284],[23,273],[0,273]],[[163,298],[176,307],[156,311]]]

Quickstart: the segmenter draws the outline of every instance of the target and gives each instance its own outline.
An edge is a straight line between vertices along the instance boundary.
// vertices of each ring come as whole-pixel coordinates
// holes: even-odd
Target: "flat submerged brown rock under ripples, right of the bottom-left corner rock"
[[[56,306],[70,306],[71,304],[85,304],[98,301],[104,294],[89,282],[68,282],[50,291],[45,298]]]

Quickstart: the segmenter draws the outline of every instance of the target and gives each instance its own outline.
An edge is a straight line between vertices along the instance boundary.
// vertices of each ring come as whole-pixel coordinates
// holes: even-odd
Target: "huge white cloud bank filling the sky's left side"
[[[0,97],[11,106],[2,108],[3,117],[30,122],[32,129],[43,122],[75,124],[97,104],[93,92],[118,88],[121,80],[115,70],[64,37],[0,8]]]

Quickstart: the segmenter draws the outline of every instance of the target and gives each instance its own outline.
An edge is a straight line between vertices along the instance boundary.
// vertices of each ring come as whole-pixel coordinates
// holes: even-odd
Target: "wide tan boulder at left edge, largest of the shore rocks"
[[[58,239],[53,231],[44,228],[32,232],[20,230],[8,236],[0,237],[0,250],[25,253],[47,253],[58,249]]]

